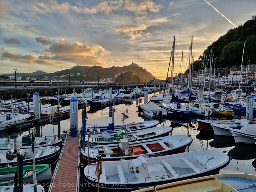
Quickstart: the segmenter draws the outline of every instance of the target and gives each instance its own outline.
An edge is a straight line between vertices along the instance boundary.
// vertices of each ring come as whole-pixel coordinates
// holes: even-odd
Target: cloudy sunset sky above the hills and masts
[[[256,14],[255,0],[209,0],[235,25]],[[102,67],[132,61],[166,76],[173,36],[177,56],[194,37],[194,57],[233,28],[203,0],[0,2],[0,73],[55,72],[75,65]],[[179,72],[179,62],[174,72]]]

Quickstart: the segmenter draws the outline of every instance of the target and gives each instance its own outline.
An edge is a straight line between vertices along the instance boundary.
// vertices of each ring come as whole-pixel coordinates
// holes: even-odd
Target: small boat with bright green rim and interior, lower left
[[[50,165],[35,165],[35,167],[37,182],[52,178]],[[13,184],[16,171],[16,166],[0,168],[0,186]],[[23,184],[33,184],[33,165],[23,166]]]

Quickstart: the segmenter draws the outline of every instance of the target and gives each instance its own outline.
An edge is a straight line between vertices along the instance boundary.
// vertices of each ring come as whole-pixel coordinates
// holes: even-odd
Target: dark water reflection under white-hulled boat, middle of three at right
[[[213,141],[210,141],[211,147],[222,148],[235,145],[234,137],[214,135]]]

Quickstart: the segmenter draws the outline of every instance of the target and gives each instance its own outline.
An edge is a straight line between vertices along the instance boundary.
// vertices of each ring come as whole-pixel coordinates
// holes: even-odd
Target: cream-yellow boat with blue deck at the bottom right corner
[[[256,175],[225,173],[148,187],[136,190],[136,192],[254,192],[256,190],[255,183]]]

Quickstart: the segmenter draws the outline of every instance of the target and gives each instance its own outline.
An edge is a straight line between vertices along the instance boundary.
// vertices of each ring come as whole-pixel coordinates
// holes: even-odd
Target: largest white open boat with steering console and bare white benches
[[[230,162],[228,154],[216,150],[191,151],[174,155],[114,162],[102,162],[100,191],[132,191],[185,179],[218,174]],[[85,182],[97,187],[97,164],[84,168]],[[89,169],[89,171],[88,171]],[[171,190],[170,190],[171,191]]]

